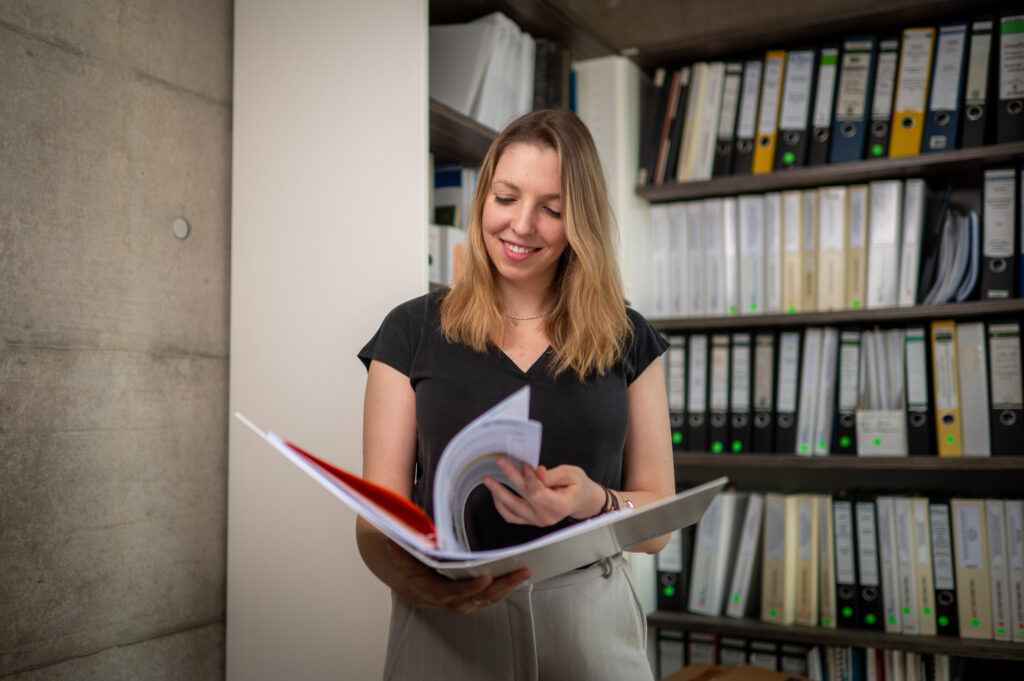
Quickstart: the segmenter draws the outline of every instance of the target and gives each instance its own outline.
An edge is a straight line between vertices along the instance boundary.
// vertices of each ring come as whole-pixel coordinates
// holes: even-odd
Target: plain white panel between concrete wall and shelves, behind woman
[[[230,410],[361,469],[355,353],[426,291],[426,0],[237,0]],[[379,678],[354,516],[231,420],[227,678]]]

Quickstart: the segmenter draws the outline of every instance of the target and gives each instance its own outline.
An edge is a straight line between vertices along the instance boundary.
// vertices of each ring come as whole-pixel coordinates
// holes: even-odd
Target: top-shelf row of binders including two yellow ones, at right
[[[1024,11],[654,71],[640,184],[1024,139]]]

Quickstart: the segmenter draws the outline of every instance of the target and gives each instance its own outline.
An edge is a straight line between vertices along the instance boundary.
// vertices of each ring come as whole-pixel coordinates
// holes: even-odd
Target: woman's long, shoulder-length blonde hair
[[[555,273],[554,305],[545,317],[555,355],[553,373],[571,370],[581,380],[592,373],[603,375],[620,360],[633,328],[626,314],[613,246],[615,227],[597,147],[583,122],[566,110],[538,111],[516,119],[487,151],[473,197],[463,270],[440,302],[441,331],[449,341],[478,352],[501,343],[505,308],[497,270],[483,245],[482,215],[498,161],[515,143],[554,150],[561,175],[568,245]]]

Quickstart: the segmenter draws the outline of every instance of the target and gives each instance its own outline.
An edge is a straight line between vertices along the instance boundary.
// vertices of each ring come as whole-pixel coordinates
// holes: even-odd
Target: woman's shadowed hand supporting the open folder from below
[[[432,607],[466,614],[494,605],[529,579],[529,569],[510,572],[500,578],[476,577],[450,580],[427,567],[389,539],[387,554],[391,563],[391,588],[402,600],[420,607]]]

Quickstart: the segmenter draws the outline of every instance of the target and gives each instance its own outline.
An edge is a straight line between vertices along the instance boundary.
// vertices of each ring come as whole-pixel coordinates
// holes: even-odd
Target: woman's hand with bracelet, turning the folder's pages
[[[519,493],[493,477],[483,478],[495,499],[495,508],[507,522],[548,527],[565,518],[583,520],[604,509],[604,487],[587,477],[579,466],[532,468],[505,458],[497,463]]]

